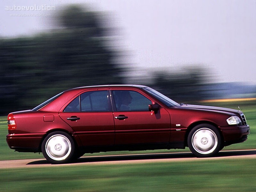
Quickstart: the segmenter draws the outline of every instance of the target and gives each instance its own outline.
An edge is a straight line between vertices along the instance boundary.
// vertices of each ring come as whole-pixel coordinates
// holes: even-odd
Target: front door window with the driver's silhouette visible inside
[[[113,96],[117,111],[148,111],[152,102],[136,91],[114,90]]]

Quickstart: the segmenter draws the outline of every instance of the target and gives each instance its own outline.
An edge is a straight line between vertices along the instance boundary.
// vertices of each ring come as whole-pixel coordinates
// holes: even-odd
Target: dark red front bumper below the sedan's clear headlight
[[[221,127],[221,132],[223,134],[225,146],[228,146],[247,140],[247,136],[250,134],[250,127],[249,125]]]

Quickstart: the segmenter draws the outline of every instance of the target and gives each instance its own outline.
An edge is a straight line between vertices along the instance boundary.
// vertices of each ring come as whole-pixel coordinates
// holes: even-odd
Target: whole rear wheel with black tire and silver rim
[[[66,132],[52,132],[42,143],[44,157],[53,164],[68,163],[75,154],[75,143]]]

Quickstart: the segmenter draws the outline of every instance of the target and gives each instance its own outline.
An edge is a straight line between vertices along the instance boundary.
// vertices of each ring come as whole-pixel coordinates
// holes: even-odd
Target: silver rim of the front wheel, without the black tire
[[[191,138],[192,146],[200,154],[212,153],[217,145],[218,138],[215,132],[208,128],[200,128]]]

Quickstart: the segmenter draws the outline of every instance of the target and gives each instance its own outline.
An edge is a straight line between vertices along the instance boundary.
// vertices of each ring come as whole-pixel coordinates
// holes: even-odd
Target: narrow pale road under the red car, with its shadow
[[[69,164],[51,164],[45,159],[22,159],[0,161],[0,169],[12,168],[35,168],[49,166],[81,166],[81,165],[103,165],[103,164],[141,164],[156,162],[182,162],[201,161],[207,159],[239,159],[256,158],[256,149],[220,151],[217,156],[209,158],[197,158],[192,153],[157,153],[137,155],[112,155],[112,156],[87,156],[77,159]]]

